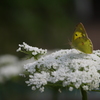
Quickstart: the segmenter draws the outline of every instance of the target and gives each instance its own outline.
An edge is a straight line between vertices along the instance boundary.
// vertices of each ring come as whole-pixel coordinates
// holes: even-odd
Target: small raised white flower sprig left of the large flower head
[[[25,42],[23,42],[23,44],[19,44],[19,48],[17,49],[17,52],[21,51],[22,49],[24,49],[25,51],[30,51],[32,53],[33,56],[40,54],[40,55],[44,55],[47,53],[47,50],[43,50],[43,49],[39,49],[37,47],[32,47],[27,45]],[[23,50],[22,50],[23,51]]]

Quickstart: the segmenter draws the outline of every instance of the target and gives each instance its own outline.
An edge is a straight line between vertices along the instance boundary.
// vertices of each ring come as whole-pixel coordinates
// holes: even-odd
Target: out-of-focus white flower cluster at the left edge
[[[33,62],[33,59],[19,60],[14,55],[2,55],[0,56],[0,84],[11,80],[13,77],[19,77],[20,73],[23,73],[23,65]]]

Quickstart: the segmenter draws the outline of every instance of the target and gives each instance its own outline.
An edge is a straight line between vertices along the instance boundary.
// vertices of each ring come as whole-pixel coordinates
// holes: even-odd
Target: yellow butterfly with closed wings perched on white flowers
[[[72,47],[86,54],[91,54],[93,52],[93,44],[88,38],[88,35],[82,23],[79,23],[76,26],[72,37]]]

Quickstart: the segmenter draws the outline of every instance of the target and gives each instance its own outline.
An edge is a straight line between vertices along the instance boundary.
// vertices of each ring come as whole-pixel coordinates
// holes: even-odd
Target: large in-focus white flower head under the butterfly
[[[24,66],[29,74],[26,83],[32,89],[44,91],[48,83],[60,82],[62,87],[84,90],[99,88],[100,50],[93,54],[81,53],[76,49],[59,50]]]

